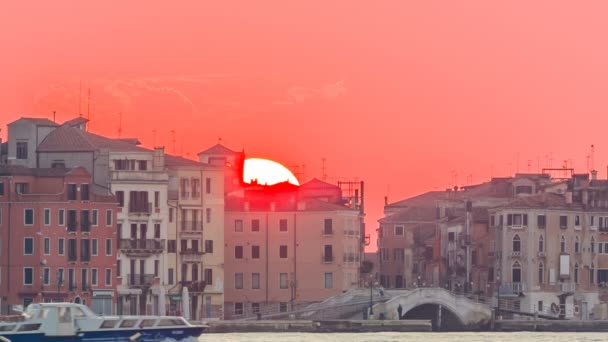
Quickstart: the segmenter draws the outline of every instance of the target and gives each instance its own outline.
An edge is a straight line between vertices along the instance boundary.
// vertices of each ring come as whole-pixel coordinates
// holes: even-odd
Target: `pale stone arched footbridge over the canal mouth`
[[[447,329],[474,329],[490,323],[492,310],[489,305],[476,302],[463,295],[456,295],[442,288],[419,288],[404,291],[384,303],[373,306],[376,318],[431,319],[435,325]],[[443,330],[443,329],[442,329]]]

